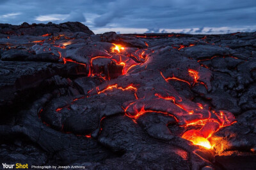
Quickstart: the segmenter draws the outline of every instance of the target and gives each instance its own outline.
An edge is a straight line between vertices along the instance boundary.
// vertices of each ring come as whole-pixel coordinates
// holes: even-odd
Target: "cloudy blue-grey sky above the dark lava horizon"
[[[0,0],[0,23],[79,21],[95,33],[256,31],[255,0]]]

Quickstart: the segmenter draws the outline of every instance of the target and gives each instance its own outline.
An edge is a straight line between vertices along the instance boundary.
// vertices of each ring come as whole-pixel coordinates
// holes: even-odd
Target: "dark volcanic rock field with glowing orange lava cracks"
[[[0,24],[0,163],[255,169],[256,32]]]

